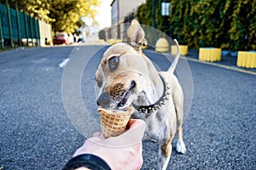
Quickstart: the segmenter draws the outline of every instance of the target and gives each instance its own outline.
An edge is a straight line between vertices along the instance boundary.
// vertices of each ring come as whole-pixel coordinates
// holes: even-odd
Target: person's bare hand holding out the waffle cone
[[[105,139],[102,133],[95,133],[76,150],[73,156],[92,154],[108,162],[111,169],[140,169],[143,166],[143,134],[146,123],[131,119],[128,130],[117,137]]]

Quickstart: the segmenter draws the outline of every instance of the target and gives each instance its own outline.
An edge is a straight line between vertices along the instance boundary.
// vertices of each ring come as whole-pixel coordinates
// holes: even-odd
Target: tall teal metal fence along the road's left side
[[[47,40],[47,42],[46,42]],[[43,21],[21,13],[17,7],[0,3],[0,42],[1,48],[9,46],[44,45],[51,41],[51,26]]]

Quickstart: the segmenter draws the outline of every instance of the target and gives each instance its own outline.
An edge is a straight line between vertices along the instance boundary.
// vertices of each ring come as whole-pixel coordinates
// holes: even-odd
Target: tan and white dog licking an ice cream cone
[[[96,71],[100,88],[97,105],[122,109],[133,106],[133,118],[143,119],[143,139],[159,144],[158,169],[166,169],[172,154],[172,139],[177,132],[177,152],[186,151],[183,142],[183,89],[173,74],[180,49],[168,71],[158,72],[141,46],[145,33],[137,20],[131,21],[125,42],[118,42],[103,54]]]

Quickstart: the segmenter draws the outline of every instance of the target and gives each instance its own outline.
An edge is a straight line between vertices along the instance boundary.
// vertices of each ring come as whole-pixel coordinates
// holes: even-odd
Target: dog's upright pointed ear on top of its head
[[[131,26],[128,28],[125,37],[127,42],[131,44],[135,44],[137,46],[141,46],[145,44],[145,32],[143,28],[140,26],[137,20],[131,21]]]

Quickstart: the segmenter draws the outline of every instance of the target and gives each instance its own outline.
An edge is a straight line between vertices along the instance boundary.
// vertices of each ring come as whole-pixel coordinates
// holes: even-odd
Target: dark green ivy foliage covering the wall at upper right
[[[166,31],[155,3],[156,28]],[[167,2],[167,1],[166,1]],[[190,48],[218,47],[231,50],[256,49],[256,1],[252,0],[169,0],[172,37]],[[153,26],[153,0],[137,10],[137,19]]]

